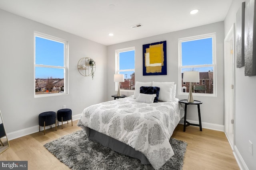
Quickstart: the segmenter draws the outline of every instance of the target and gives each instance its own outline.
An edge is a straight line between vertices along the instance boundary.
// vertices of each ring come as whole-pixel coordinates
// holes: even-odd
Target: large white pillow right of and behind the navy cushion
[[[174,82],[153,82],[152,86],[160,87],[158,101],[170,102],[172,100],[172,87]]]

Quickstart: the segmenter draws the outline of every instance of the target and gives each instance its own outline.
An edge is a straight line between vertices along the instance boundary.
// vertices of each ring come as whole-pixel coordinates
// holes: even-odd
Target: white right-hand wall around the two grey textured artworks
[[[233,0],[224,20],[225,35],[236,22],[236,12],[242,2],[244,0]],[[256,169],[255,84],[256,76],[244,76],[244,67],[235,69],[234,152],[242,169],[249,170]],[[249,140],[254,145],[253,155],[249,152]]]

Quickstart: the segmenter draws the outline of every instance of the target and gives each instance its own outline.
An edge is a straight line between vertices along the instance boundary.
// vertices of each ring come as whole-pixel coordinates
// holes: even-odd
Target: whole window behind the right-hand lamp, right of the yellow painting
[[[216,33],[179,39],[179,94],[187,94],[182,83],[184,71],[198,71],[200,82],[193,83],[198,96],[216,96]]]

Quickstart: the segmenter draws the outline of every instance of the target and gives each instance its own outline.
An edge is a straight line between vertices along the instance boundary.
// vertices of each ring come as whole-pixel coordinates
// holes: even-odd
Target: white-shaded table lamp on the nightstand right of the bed
[[[192,82],[199,82],[199,72],[198,71],[184,71],[183,72],[183,82],[189,82],[189,94],[188,102],[193,103],[192,96]]]

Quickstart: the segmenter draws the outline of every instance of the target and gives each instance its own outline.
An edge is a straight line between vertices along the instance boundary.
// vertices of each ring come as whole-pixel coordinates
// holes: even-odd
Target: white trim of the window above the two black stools
[[[47,66],[42,64],[36,64],[36,37],[49,39],[51,41],[57,41],[60,43],[64,43],[64,66]],[[66,47],[66,48],[65,48]],[[64,93],[52,93],[52,94],[40,94],[36,95],[35,88],[35,80],[36,80],[36,67],[49,67],[49,68],[64,68]],[[49,97],[49,96],[60,96],[68,94],[68,41],[65,39],[61,39],[58,37],[54,37],[51,35],[47,35],[44,33],[40,33],[34,31],[34,98],[42,98],[42,97]]]

